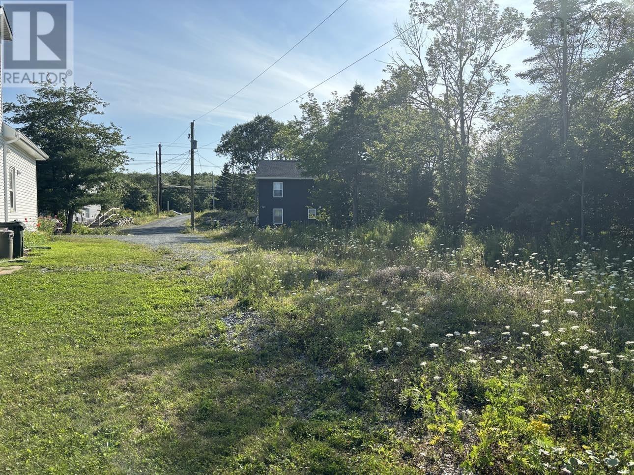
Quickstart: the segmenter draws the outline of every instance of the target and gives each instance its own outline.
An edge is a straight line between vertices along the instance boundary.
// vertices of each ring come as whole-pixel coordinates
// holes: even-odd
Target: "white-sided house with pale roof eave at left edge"
[[[0,38],[13,39],[4,8],[0,7]],[[0,58],[0,63],[1,63]],[[1,77],[1,70],[0,70]],[[36,162],[48,155],[22,133],[4,123],[2,81],[0,81],[0,221],[22,221],[27,228],[37,226]]]

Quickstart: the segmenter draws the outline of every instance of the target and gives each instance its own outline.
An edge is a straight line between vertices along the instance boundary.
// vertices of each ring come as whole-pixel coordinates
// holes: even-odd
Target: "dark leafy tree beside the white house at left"
[[[94,122],[106,106],[91,84],[48,82],[37,84],[34,95],[20,94],[16,103],[5,105],[8,120],[49,155],[37,162],[38,205],[49,214],[65,212],[68,233],[81,207],[112,200],[107,184],[127,160],[116,148],[125,143],[121,129]]]

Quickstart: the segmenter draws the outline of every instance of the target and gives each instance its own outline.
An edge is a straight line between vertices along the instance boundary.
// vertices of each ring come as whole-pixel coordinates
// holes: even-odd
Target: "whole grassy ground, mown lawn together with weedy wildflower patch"
[[[209,264],[84,238],[0,281],[0,467],[634,472],[631,246],[207,235]]]

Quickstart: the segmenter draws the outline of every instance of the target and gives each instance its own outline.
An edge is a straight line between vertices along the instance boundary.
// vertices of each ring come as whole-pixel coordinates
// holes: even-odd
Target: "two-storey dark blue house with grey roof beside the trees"
[[[313,178],[302,176],[297,160],[262,160],[256,183],[260,226],[307,223],[317,218],[310,198]]]

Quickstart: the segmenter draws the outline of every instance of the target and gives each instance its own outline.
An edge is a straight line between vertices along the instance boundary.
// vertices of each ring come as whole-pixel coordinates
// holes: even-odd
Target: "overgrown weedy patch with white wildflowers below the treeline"
[[[469,472],[630,472],[631,245],[382,221],[226,233],[247,247],[216,282],[328,368],[347,410],[400,415]]]

